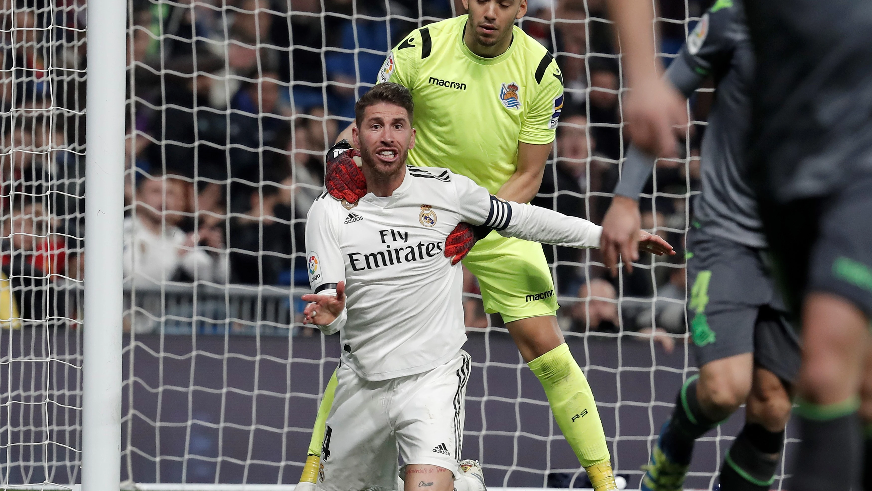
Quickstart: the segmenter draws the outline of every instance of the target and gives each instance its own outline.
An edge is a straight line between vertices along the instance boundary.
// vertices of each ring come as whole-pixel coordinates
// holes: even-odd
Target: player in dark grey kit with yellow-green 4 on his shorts
[[[719,0],[700,19],[665,75],[686,97],[709,76],[717,92],[702,143],[702,194],[687,236],[687,318],[700,372],[678,393],[642,481],[646,491],[680,490],[694,440],[743,403],[746,425],[720,467],[721,489],[769,489],[784,446],[800,350],[770,273],[766,236],[748,178],[753,64],[743,4]],[[624,226],[638,223],[637,199],[653,164],[651,157],[631,147],[603,221],[604,235],[617,235]]]

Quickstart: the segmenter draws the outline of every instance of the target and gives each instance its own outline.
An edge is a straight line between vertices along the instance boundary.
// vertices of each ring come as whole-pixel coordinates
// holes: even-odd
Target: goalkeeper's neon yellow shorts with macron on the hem
[[[555,315],[557,297],[542,244],[491,232],[463,265],[479,279],[488,314],[499,312],[504,322]]]

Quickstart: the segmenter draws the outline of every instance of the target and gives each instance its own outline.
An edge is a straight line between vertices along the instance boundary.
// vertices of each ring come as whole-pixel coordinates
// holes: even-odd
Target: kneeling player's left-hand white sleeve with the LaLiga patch
[[[306,266],[312,291],[336,296],[336,286],[345,281],[345,262],[339,249],[337,220],[330,213],[330,198],[312,203],[306,217]],[[329,325],[318,326],[324,334],[333,334],[345,324],[345,310]]]

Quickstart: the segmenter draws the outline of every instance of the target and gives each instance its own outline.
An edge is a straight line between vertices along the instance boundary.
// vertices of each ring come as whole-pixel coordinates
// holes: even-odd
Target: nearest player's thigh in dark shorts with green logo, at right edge
[[[808,292],[841,297],[872,317],[872,178],[829,201],[808,265]]]

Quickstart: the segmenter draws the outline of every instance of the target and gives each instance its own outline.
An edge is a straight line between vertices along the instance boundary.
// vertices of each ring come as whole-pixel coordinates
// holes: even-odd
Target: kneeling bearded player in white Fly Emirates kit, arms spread
[[[502,201],[469,178],[409,167],[412,94],[376,85],[355,106],[366,194],[357,203],[324,192],[306,222],[313,294],[306,322],[339,331],[342,357],[327,419],[317,489],[389,490],[399,456],[405,490],[483,490],[460,469],[470,357],[462,270],[442,254],[460,222],[560,246],[599,246],[601,229],[546,208]],[[482,142],[486,145],[487,142]],[[640,231],[640,247],[674,254]]]

